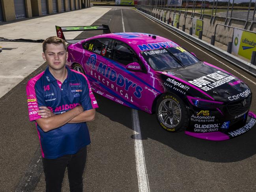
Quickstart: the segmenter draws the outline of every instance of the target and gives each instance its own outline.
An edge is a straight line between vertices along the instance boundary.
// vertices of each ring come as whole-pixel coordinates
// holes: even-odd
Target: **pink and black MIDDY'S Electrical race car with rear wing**
[[[163,129],[205,140],[250,130],[252,91],[234,75],[199,60],[174,41],[145,33],[110,33],[108,26],[58,27],[105,34],[66,40],[67,66],[85,74],[92,90],[116,103],[156,114]]]

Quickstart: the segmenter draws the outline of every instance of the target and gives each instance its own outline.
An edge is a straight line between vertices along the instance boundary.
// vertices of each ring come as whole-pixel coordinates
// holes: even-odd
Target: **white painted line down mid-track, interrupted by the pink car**
[[[123,23],[123,12],[121,9],[123,32],[125,32]],[[146,169],[141,132],[140,132],[140,121],[138,117],[138,111],[132,109],[132,120],[133,120],[133,136],[134,136],[134,151],[135,151],[135,161],[138,177],[139,192],[150,192],[148,183],[148,174]]]

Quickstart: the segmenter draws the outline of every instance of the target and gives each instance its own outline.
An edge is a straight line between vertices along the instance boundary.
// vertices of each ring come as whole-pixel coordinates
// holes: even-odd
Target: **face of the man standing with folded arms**
[[[67,61],[67,52],[62,43],[47,44],[45,53],[43,53],[43,60],[45,60],[53,70],[63,69]]]

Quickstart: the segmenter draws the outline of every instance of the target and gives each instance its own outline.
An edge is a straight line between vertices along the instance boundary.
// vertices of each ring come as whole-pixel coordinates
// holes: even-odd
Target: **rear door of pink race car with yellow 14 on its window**
[[[92,89],[105,89],[101,82],[102,78],[98,68],[101,68],[103,63],[106,63],[105,56],[108,55],[107,48],[111,41],[112,39],[99,38],[83,43],[83,48],[86,50],[84,52],[83,67]]]

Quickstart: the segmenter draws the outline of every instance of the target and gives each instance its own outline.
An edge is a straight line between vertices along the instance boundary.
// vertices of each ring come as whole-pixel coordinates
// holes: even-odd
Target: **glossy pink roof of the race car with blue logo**
[[[155,36],[155,38],[154,38]],[[159,35],[153,35],[153,34],[146,34],[146,33],[137,33],[137,32],[127,32],[127,33],[111,33],[111,34],[102,34],[102,35],[96,35],[93,37],[90,37],[86,39],[85,41],[89,41],[92,39],[97,38],[112,38],[119,41],[123,41],[124,43],[127,43],[130,45],[135,52],[142,51],[138,46],[140,45],[147,45],[151,43],[161,43],[161,42],[172,42],[170,44],[170,47],[177,47],[178,44],[174,43],[170,39],[166,39],[164,37],[161,37]]]

